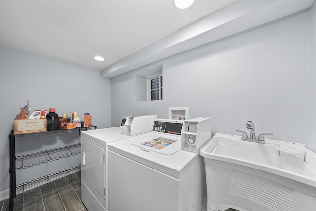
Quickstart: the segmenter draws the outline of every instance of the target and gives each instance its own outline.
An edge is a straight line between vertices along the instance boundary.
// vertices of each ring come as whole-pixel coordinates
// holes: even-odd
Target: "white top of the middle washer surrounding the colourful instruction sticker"
[[[148,150],[145,145],[141,144],[148,140],[157,138],[175,139],[175,143],[170,144],[167,154],[158,153],[157,150]],[[139,146],[141,144],[141,147]],[[180,179],[187,169],[197,160],[199,152],[190,152],[181,150],[181,137],[166,134],[148,132],[142,135],[133,136],[124,140],[109,143],[109,150],[116,152],[126,158],[134,160],[149,168],[156,169],[172,177]],[[171,150],[172,149],[172,150]],[[172,153],[175,151],[174,153]],[[169,155],[170,154],[170,155]],[[108,162],[116,162],[109,159]],[[117,164],[119,165],[119,164]]]

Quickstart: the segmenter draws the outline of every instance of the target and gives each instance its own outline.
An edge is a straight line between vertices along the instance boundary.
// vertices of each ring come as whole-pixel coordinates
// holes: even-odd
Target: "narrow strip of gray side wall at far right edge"
[[[307,115],[308,148],[316,152],[316,3],[310,13],[310,54],[309,54],[309,92]]]

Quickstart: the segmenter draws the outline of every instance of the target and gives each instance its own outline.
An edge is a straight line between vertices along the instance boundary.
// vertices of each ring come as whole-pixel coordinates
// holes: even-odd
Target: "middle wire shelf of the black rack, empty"
[[[40,151],[27,155],[17,156],[15,159],[16,169],[21,170],[40,164],[56,161],[81,153],[81,144],[59,147],[51,150]]]

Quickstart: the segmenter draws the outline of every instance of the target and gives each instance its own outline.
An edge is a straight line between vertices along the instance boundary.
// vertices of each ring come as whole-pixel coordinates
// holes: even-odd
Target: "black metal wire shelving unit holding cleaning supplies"
[[[88,129],[96,129],[96,126],[91,127],[77,127],[75,129],[59,129],[59,130],[51,130],[45,132],[34,132],[27,134],[16,134],[14,135],[13,130],[9,134],[9,150],[10,150],[10,199],[9,199],[9,211],[13,211],[13,207],[15,204],[23,203],[36,195],[32,195],[30,197],[25,197],[24,193],[28,190],[31,190],[35,187],[38,187],[43,184],[47,184],[48,187],[45,192],[48,192],[57,187],[63,186],[67,183],[70,183],[74,180],[80,179],[80,165],[65,169],[59,172],[55,172],[50,175],[46,175],[40,177],[38,179],[34,179],[32,181],[28,181],[19,185],[16,185],[16,171],[21,169],[30,168],[33,166],[37,166],[40,164],[56,161],[59,159],[71,157],[74,155],[78,155],[81,153],[81,144],[73,144],[69,146],[59,147],[55,149],[40,151],[36,153],[31,153],[27,155],[15,156],[15,138],[23,137],[23,136],[32,136],[32,135],[42,135],[42,134],[52,134],[52,133],[60,133],[60,132],[73,132],[79,131],[79,135],[81,131],[85,131]]]

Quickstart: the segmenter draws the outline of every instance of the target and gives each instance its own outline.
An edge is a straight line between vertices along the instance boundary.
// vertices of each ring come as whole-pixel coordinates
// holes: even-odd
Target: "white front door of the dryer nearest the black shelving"
[[[102,199],[105,199],[105,150],[85,137],[81,139],[81,175]]]

